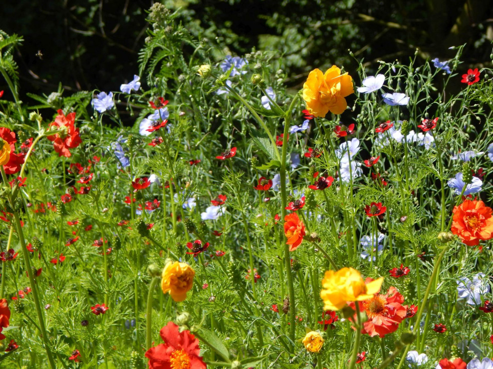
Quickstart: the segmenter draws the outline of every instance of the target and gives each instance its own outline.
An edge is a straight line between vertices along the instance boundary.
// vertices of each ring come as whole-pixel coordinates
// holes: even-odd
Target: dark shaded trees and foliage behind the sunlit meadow
[[[0,28],[24,37],[16,52],[21,96],[46,93],[61,82],[68,90],[118,90],[138,71],[149,0],[4,0]],[[243,54],[257,49],[284,53],[288,84],[301,86],[313,67],[376,60],[455,55],[468,43],[467,65],[491,65],[492,0],[169,0],[182,7],[183,24],[217,50]],[[38,50],[42,54],[39,55]],[[37,54],[37,55],[36,55]],[[217,52],[220,57],[222,52]],[[6,89],[0,81],[0,89]]]

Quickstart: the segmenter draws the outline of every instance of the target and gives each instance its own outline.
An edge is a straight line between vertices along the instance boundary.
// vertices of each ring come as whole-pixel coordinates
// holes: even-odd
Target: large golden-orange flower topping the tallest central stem
[[[354,93],[353,79],[348,73],[333,65],[325,74],[314,69],[303,84],[303,100],[308,112],[315,117],[325,117],[330,111],[342,114],[346,110],[346,96]]]

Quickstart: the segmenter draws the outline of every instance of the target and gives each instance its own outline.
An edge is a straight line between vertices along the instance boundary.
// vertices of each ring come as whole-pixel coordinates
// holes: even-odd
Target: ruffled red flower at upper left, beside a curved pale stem
[[[47,136],[46,138],[53,142],[53,148],[58,153],[58,156],[70,157],[69,149],[75,149],[82,143],[79,135],[79,129],[74,127],[75,112],[69,113],[67,116],[63,114],[61,109],[58,110],[58,115],[55,121],[50,123],[49,128],[62,129],[62,133]]]

